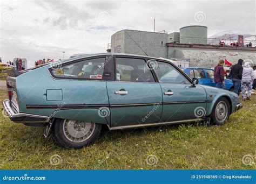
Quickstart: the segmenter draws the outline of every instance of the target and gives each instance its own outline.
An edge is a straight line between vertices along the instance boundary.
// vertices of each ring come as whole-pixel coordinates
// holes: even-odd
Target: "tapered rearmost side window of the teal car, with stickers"
[[[58,78],[68,79],[96,79],[102,80],[105,58],[87,59],[64,65],[52,67],[51,73]]]

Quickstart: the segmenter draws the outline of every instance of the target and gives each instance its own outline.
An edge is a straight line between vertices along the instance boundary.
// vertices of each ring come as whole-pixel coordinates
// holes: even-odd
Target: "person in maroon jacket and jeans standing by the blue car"
[[[224,88],[225,80],[224,80],[224,60],[219,60],[217,66],[214,67],[214,82],[216,84],[216,88]]]

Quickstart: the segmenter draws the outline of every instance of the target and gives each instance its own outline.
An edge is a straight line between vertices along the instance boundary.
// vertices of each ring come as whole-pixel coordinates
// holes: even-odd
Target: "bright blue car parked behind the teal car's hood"
[[[188,76],[198,79],[198,84],[215,87],[214,70],[211,68],[181,68]],[[224,89],[233,91],[234,85],[232,80],[225,79]]]

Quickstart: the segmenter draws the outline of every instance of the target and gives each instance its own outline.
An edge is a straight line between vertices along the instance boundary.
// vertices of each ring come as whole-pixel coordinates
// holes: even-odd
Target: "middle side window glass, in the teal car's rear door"
[[[117,81],[154,82],[144,59],[116,58]]]

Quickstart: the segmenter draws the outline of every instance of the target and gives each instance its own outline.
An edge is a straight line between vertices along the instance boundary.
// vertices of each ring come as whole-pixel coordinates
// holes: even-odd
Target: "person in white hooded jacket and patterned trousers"
[[[252,93],[252,82],[254,79],[253,69],[252,69],[252,63],[251,62],[245,62],[244,63],[244,69],[242,70],[242,82],[241,82],[241,88],[242,88],[242,100],[250,100],[251,93]],[[246,91],[247,98],[246,98]]]

